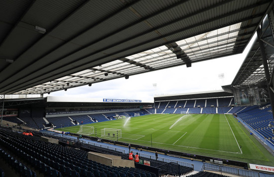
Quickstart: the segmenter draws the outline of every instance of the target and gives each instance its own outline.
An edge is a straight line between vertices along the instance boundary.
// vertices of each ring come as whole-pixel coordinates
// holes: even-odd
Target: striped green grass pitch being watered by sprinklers
[[[101,136],[101,129],[121,129],[122,138],[119,141],[147,147],[151,147],[152,137],[152,147],[160,149],[269,166],[274,162],[274,156],[232,115],[153,114],[131,118],[127,123],[126,120],[86,125],[94,126],[98,137]],[[79,126],[66,127],[65,131],[77,133]]]

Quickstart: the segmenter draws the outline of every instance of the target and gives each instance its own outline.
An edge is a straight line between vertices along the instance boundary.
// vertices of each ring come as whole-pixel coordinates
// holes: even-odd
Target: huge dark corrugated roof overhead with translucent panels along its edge
[[[46,93],[242,53],[271,3],[0,1],[0,94]]]

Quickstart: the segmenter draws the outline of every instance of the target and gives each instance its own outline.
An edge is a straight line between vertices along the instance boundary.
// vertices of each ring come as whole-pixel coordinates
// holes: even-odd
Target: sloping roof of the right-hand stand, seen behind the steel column
[[[270,75],[274,68],[274,56],[273,47],[274,41],[272,37],[272,31],[269,26],[269,21],[265,20],[261,36],[261,40],[264,42],[266,48],[266,54],[268,55],[268,65],[271,69]],[[271,51],[271,52],[268,52]],[[241,68],[239,69],[235,79],[233,80],[231,86],[234,88],[247,87],[252,85],[266,85],[266,74],[263,65],[263,59],[261,54],[261,49],[259,46],[258,39],[253,44],[250,52],[248,53],[245,61],[243,62]]]

